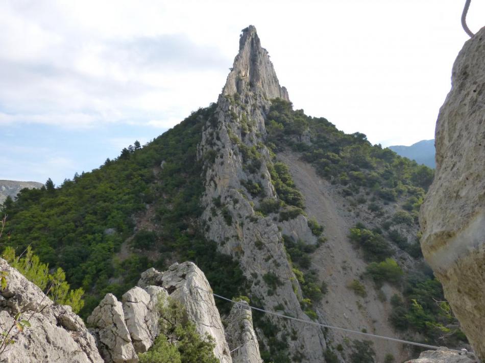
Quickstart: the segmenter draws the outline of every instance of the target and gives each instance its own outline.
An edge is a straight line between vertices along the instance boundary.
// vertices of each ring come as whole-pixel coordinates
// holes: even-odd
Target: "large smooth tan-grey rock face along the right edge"
[[[485,359],[485,28],[468,40],[436,126],[434,182],[421,209],[424,256]]]

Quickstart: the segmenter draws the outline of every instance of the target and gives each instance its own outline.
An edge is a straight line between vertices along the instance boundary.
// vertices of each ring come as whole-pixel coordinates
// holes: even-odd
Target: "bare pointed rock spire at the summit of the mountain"
[[[281,87],[268,51],[261,47],[256,28],[249,25],[239,39],[239,53],[227,76],[223,95],[251,90],[266,99],[282,98],[289,101],[286,88]]]

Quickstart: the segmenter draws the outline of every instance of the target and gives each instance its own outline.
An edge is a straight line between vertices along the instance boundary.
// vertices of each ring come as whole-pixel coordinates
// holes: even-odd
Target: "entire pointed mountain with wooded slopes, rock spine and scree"
[[[316,175],[302,193],[305,180],[296,183],[292,172],[306,166]],[[84,318],[106,293],[119,298],[134,286],[141,271],[192,261],[227,298],[244,295],[304,322],[454,346],[466,338],[420,248],[418,211],[432,180],[430,168],[365,135],[293,110],[248,27],[217,103],[61,186],[49,179],[7,199],[5,242],[61,267],[70,288],[85,291]],[[312,198],[335,210],[307,208]],[[325,214],[340,221],[333,236]],[[227,302],[217,303],[228,312]],[[372,342],[278,319],[254,315],[264,361],[410,355],[396,343],[376,352]]]

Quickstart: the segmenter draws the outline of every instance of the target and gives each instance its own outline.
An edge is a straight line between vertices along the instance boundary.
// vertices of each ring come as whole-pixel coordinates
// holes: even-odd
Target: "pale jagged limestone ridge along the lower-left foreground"
[[[55,305],[32,282],[0,258],[0,271],[7,287],[0,295],[0,327],[14,340],[0,353],[0,361],[74,363],[136,363],[137,353],[150,349],[160,333],[157,304],[170,296],[180,301],[187,318],[195,323],[201,336],[214,338],[214,354],[221,363],[231,363],[229,345],[219,312],[204,276],[193,263],[174,264],[165,272],[149,269],[118,301],[106,294],[88,317],[88,329],[69,306]],[[18,320],[28,320],[30,327],[18,331]],[[236,314],[237,313],[237,314]],[[251,312],[231,313],[230,342],[238,363],[260,363]],[[232,348],[234,347],[234,348]]]

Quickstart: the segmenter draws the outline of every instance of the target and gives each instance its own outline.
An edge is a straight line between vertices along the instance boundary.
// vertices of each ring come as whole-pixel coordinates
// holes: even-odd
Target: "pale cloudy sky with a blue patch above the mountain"
[[[208,106],[249,24],[296,109],[383,146],[432,139],[464,3],[0,0],[0,179],[61,184]]]

